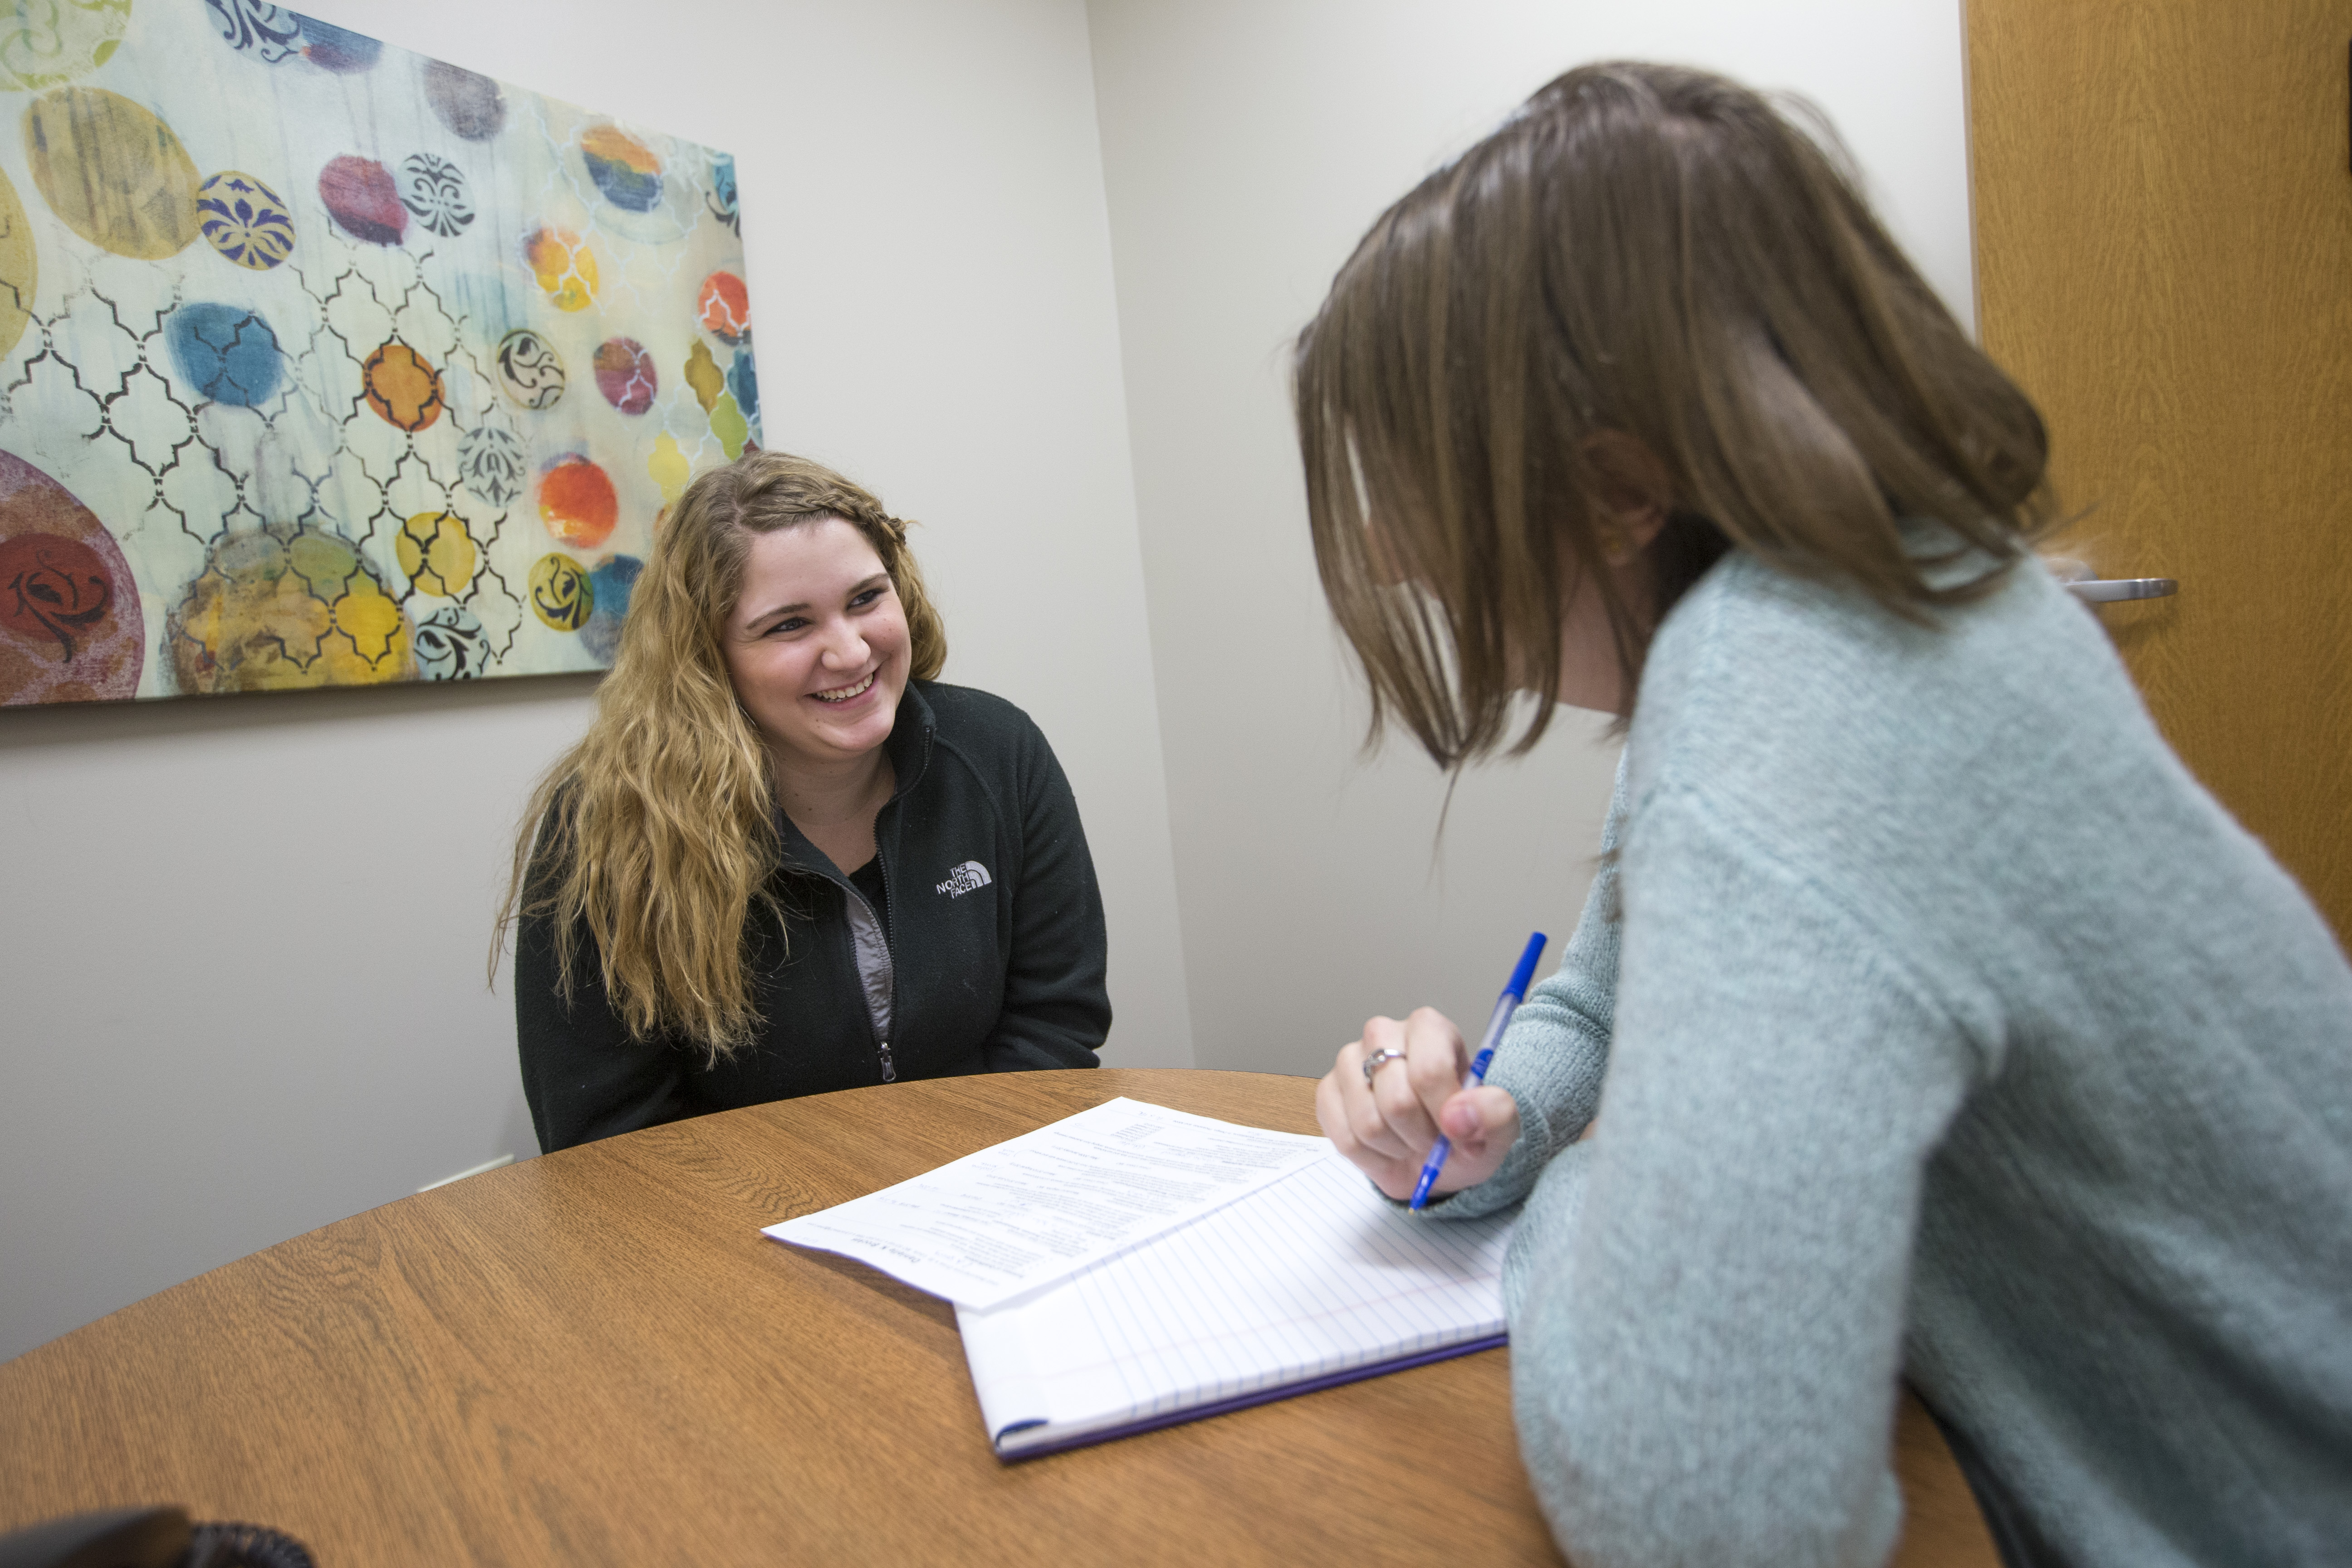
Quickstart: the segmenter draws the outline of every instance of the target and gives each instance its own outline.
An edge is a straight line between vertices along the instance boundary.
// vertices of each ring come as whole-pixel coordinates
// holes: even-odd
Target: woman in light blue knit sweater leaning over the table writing
[[[1296,350],[1315,552],[1442,766],[1616,712],[1599,877],[1484,1088],[1317,1091],[1522,1204],[1522,1458],[1609,1563],[1879,1563],[1910,1380],[2013,1563],[2352,1542],[2352,969],[2030,541],[2032,404],[1764,99],[1590,66]]]

